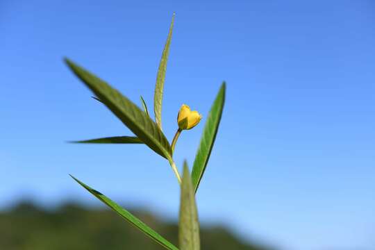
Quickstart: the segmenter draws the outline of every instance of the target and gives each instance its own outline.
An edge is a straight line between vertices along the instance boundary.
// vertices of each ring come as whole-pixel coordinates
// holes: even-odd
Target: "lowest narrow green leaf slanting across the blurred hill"
[[[97,199],[99,199],[100,201],[105,203],[107,206],[112,208],[112,210],[114,210],[119,216],[121,216],[127,222],[129,222],[130,224],[132,224],[133,226],[138,228],[140,231],[142,231],[144,234],[149,236],[149,238],[151,238],[151,239],[155,240],[156,242],[158,242],[159,244],[161,244],[163,247],[165,247],[165,249],[178,250],[178,248],[175,247],[174,244],[165,240],[165,238],[163,238],[161,235],[156,233],[156,231],[153,231],[153,229],[151,229],[149,226],[147,226],[142,221],[140,221],[140,219],[138,219],[137,217],[135,217],[134,215],[129,213],[127,210],[125,210],[124,208],[119,206],[114,201],[110,200],[104,194],[102,194],[101,192],[98,192],[97,190],[94,190],[94,189],[90,188],[88,185],[85,185],[85,183],[82,183],[81,181],[79,181],[74,176],[72,176],[72,175],[70,175],[70,176],[72,178],[74,178],[74,180],[76,182],[78,182],[81,186],[83,186],[83,188],[88,190],[88,192],[93,194],[94,197],[97,197]]]

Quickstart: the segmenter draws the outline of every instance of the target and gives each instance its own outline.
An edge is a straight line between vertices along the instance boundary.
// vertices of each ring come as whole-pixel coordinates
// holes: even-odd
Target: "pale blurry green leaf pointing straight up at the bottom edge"
[[[195,193],[188,164],[183,163],[181,183],[180,221],[178,222],[178,242],[181,250],[199,250],[199,222]]]

